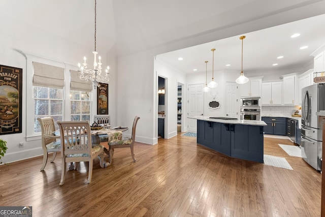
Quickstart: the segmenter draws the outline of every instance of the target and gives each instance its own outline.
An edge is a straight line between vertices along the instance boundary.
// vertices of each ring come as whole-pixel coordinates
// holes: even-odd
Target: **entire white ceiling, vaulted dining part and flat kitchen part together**
[[[15,0],[2,1],[1,6],[1,20],[23,25],[23,33],[34,30],[45,39],[55,35],[93,50],[94,0]],[[215,71],[238,71],[239,34],[245,34],[244,72],[267,70],[275,61],[278,69],[304,65],[325,41],[324,16],[252,31],[322,14],[324,6],[321,0],[97,0],[96,45],[98,52],[112,50],[120,57],[147,50],[155,55],[209,42],[158,57],[185,73],[193,68],[205,71],[208,60],[211,71],[211,48],[216,48]],[[301,36],[290,39],[296,32]],[[298,52],[304,44],[309,48]],[[180,55],[182,62],[177,60]],[[278,55],[284,58],[277,60]],[[231,67],[224,68],[225,64]]]

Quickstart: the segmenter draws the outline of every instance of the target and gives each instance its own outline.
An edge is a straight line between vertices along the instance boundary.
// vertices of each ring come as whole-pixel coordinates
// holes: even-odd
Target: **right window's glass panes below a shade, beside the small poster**
[[[70,90],[70,112],[72,121],[90,121],[90,92]]]

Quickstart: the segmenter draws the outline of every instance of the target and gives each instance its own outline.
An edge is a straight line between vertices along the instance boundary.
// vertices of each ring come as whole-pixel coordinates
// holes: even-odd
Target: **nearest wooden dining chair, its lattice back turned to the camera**
[[[91,131],[88,121],[57,121],[60,129],[62,171],[60,185],[63,185],[67,163],[89,162],[88,181],[91,182],[94,158],[100,159],[102,168],[104,162],[104,146],[91,144]],[[77,169],[77,166],[75,167]]]

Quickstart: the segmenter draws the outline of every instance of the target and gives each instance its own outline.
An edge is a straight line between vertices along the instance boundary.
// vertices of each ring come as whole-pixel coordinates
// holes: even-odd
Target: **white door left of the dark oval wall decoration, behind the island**
[[[190,84],[188,85],[187,92],[187,116],[202,116],[203,103],[204,103],[204,84]],[[187,118],[187,130],[197,132],[197,120]]]

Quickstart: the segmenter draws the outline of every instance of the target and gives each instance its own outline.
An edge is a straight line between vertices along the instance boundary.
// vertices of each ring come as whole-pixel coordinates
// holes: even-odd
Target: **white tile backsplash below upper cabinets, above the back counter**
[[[262,106],[261,116],[291,116],[294,110],[299,110],[301,106]],[[299,111],[301,114],[301,111]]]

